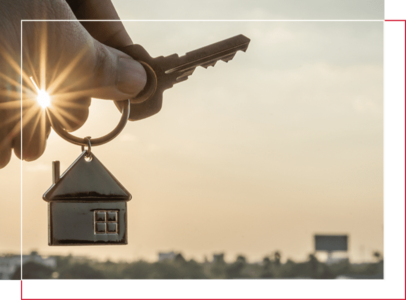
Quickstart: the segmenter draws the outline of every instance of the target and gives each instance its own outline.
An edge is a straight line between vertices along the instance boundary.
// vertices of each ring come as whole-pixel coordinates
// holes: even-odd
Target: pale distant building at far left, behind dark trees
[[[46,266],[56,267],[57,260],[55,257],[42,257],[37,251],[31,252],[30,255],[8,255],[0,256],[0,279],[9,280],[12,278],[15,271],[28,261],[35,261]]]

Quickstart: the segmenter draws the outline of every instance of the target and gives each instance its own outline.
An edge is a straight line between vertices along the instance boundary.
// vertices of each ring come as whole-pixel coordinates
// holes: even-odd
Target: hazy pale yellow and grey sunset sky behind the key
[[[219,252],[258,261],[279,250],[282,261],[303,261],[314,234],[348,234],[348,252],[336,254],[351,261],[383,252],[384,22],[302,20],[383,19],[383,1],[233,1],[241,3],[234,9],[227,2],[211,14],[210,5],[186,1],[158,11],[150,5],[166,2],[113,1],[122,19],[150,19],[124,25],[153,57],[237,34],[251,39],[245,53],[197,67],[166,90],[159,113],[92,147],[132,194],[128,245],[48,246],[42,195],[52,161],[62,173],[81,153],[52,131],[45,153],[23,161],[22,173],[15,155],[0,170],[8,211],[0,252],[153,261],[173,250],[199,261]],[[93,99],[73,133],[101,136],[119,119],[112,101]]]

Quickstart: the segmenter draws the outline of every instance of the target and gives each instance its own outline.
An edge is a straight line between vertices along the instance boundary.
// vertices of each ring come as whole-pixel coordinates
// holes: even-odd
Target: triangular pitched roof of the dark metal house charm
[[[131,194],[91,153],[86,161],[86,150],[67,168],[44,193],[43,199],[78,201],[129,201]]]

